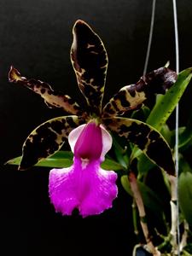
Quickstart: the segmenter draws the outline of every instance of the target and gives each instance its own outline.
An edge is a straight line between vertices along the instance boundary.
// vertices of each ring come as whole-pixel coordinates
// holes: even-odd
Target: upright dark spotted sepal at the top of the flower
[[[83,20],[73,26],[71,60],[90,113],[101,113],[108,55],[101,38]]]

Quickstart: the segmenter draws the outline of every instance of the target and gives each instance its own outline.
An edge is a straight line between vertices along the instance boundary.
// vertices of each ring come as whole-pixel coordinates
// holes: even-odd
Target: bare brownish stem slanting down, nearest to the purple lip
[[[143,205],[143,198],[142,198],[141,192],[140,192],[138,184],[137,184],[137,177],[134,172],[130,172],[128,178],[129,178],[133,197],[137,204],[139,217],[140,217],[140,223],[141,223],[141,226],[143,229],[143,235],[147,242],[148,251],[150,253],[152,253],[154,256],[159,256],[160,252],[154,247],[154,244],[151,241],[150,236],[149,236],[148,224],[146,222],[146,213],[145,213],[145,209],[144,209],[144,205]]]

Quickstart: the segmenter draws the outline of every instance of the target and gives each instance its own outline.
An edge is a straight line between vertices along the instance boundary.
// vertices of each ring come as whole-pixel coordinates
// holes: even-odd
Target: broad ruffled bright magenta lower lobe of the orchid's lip
[[[100,214],[112,207],[117,197],[117,174],[105,171],[100,161],[82,163],[75,159],[70,168],[53,169],[49,173],[49,197],[56,212],[71,215],[78,208],[83,216]]]

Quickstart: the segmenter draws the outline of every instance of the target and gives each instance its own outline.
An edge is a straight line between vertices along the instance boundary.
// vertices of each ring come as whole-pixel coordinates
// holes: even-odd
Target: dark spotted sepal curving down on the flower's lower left
[[[69,132],[83,123],[82,119],[71,115],[50,119],[39,125],[23,144],[19,170],[25,170],[37,164],[38,161],[55,154],[67,141]]]

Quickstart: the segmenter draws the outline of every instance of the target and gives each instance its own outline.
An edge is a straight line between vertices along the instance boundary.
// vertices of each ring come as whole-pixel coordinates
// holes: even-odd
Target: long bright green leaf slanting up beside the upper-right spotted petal
[[[149,114],[147,119],[148,125],[152,125],[158,131],[161,130],[162,125],[166,123],[166,120],[169,118],[174,108],[176,108],[177,102],[179,102],[184,90],[187,88],[191,77],[192,67],[178,74],[176,83],[166,92],[165,96],[160,97]]]

